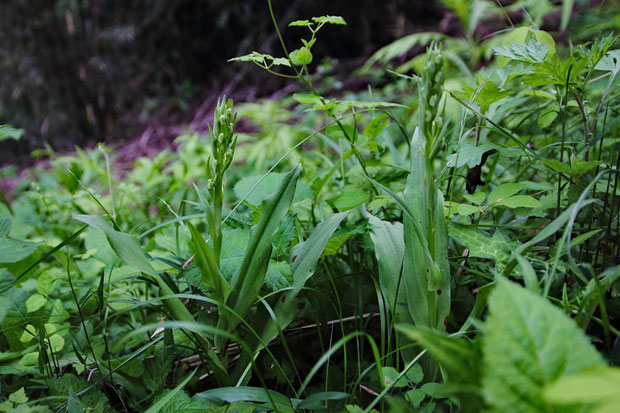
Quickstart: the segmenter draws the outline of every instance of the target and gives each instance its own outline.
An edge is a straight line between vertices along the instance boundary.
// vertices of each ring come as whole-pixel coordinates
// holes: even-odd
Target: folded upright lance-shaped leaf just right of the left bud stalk
[[[271,237],[280,227],[280,222],[293,201],[300,171],[301,166],[297,166],[289,172],[280,182],[278,189],[265,198],[260,219],[250,231],[250,241],[245,256],[241,266],[232,277],[232,292],[226,300],[226,305],[232,308],[239,317],[247,313],[258,297],[269,266]],[[232,330],[240,323],[239,319],[233,317],[229,312],[223,313],[219,327],[226,331]]]

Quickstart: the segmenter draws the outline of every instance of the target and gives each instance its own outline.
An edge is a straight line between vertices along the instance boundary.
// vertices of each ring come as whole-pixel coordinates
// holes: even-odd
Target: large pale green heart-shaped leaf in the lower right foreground
[[[573,320],[505,279],[489,297],[484,332],[483,394],[497,411],[549,411],[545,385],[604,365]]]

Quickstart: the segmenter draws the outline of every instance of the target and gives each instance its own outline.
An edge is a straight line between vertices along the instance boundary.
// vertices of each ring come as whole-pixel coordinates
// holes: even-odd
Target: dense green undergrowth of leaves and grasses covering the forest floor
[[[0,411],[615,411],[618,37],[528,9],[479,39],[513,10],[446,4],[464,37],[381,49],[380,87],[332,97],[312,47],[345,19],[295,21],[231,64],[303,91],[32,169],[0,204]]]

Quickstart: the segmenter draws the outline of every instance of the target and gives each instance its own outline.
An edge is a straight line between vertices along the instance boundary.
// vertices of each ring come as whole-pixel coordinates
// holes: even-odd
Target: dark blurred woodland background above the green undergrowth
[[[266,0],[9,0],[0,6],[0,163],[55,149],[118,142],[152,125],[191,122],[222,92],[262,96],[282,87],[250,64],[252,50],[281,55]],[[274,0],[290,48],[306,32],[288,22],[340,15],[313,48],[363,63],[405,34],[436,27],[441,7],[421,0]],[[346,65],[344,65],[346,67]],[[346,74],[344,74],[346,75]],[[248,92],[249,91],[249,92]]]

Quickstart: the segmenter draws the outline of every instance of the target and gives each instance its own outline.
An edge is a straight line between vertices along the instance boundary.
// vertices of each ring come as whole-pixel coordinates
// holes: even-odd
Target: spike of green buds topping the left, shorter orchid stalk
[[[232,163],[235,153],[237,114],[233,114],[232,108],[232,99],[226,100],[226,96],[218,99],[213,116],[213,127],[208,125],[213,152],[213,157],[207,160],[207,189],[209,192],[212,192],[214,187],[221,186],[224,172]]]

